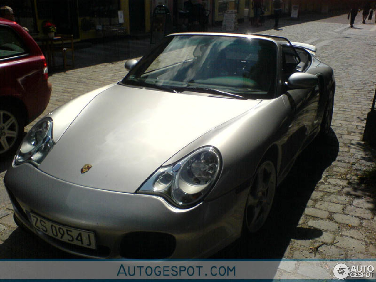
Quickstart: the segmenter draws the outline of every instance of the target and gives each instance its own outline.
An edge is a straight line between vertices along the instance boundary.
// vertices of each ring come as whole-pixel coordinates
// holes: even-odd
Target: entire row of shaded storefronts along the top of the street
[[[157,5],[171,12],[174,26],[179,24],[179,10],[187,0],[3,0],[14,9],[15,18],[33,35],[42,35],[45,21],[54,23],[57,33],[73,34],[76,39],[112,35],[149,33],[152,13]],[[253,0],[191,0],[210,11],[209,24],[221,22],[227,10],[235,10],[238,21],[254,16]],[[350,0],[284,0],[284,14],[299,5],[299,13],[326,13],[345,10]],[[329,4],[328,4],[329,3]],[[263,0],[264,15],[273,14],[272,0]]]

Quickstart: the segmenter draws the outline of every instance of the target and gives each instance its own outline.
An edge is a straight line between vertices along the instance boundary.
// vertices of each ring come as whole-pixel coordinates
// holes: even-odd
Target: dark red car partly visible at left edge
[[[19,24],[0,18],[0,157],[14,152],[24,127],[47,107],[51,90],[38,44]]]

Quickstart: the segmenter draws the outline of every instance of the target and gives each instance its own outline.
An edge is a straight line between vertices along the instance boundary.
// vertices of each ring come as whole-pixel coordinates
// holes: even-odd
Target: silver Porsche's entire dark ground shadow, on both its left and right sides
[[[270,220],[260,232],[243,236],[211,258],[282,258],[291,239],[320,237],[318,229],[297,227],[315,186],[339,150],[334,132],[315,140],[297,158],[290,173],[278,187]],[[0,245],[0,258],[77,258],[50,246],[20,227]]]

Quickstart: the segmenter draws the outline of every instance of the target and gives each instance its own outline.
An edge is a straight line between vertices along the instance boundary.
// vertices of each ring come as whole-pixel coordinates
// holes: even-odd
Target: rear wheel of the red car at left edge
[[[15,153],[24,132],[24,121],[15,106],[0,106],[0,157]]]

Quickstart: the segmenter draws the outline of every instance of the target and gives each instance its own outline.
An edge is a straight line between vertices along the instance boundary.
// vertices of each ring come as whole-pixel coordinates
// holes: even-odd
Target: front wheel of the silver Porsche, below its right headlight
[[[249,189],[244,211],[243,231],[255,233],[264,226],[270,214],[277,186],[277,173],[272,161],[264,159],[257,168]]]

